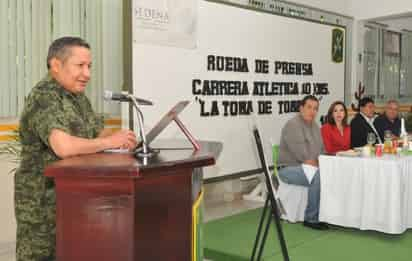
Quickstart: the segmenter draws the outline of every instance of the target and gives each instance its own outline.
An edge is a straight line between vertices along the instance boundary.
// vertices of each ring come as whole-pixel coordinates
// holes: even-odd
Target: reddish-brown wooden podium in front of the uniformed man
[[[162,150],[147,162],[98,153],[51,164],[57,260],[192,260],[201,168],[217,156],[208,148]]]

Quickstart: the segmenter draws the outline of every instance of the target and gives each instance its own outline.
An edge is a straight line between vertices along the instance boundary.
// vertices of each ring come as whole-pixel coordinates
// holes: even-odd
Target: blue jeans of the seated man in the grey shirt
[[[279,178],[288,184],[304,186],[308,188],[308,205],[305,209],[305,221],[311,223],[319,222],[320,202],[320,175],[316,172],[309,184],[308,179],[301,166],[285,167],[279,170]]]

